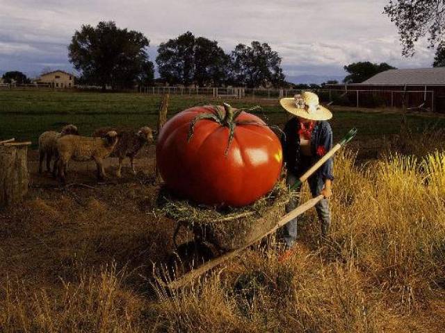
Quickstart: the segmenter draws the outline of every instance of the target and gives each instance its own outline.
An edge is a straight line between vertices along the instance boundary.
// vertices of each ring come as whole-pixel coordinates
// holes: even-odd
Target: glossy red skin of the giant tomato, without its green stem
[[[227,155],[229,128],[213,119],[197,121],[188,142],[191,121],[213,112],[210,106],[195,107],[165,123],[156,144],[159,171],[172,191],[196,203],[249,205],[273,189],[280,176],[280,140],[264,121],[241,112],[236,121],[257,125],[238,123]]]

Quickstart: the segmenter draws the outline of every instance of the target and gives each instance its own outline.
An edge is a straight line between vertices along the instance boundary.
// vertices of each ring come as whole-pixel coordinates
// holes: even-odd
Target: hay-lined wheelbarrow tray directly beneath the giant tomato
[[[295,194],[292,194],[295,195]],[[181,200],[161,189],[158,207],[170,219],[181,223],[220,250],[233,250],[266,232],[284,214],[291,192],[282,182],[252,205],[209,207]]]

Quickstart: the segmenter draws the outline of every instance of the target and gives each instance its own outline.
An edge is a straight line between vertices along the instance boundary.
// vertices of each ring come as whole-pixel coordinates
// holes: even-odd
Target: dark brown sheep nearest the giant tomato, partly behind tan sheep
[[[95,130],[92,137],[103,137],[109,130],[115,130],[119,136],[119,142],[113,150],[113,153],[110,155],[111,157],[119,158],[119,166],[116,171],[116,176],[119,178],[122,177],[122,163],[124,162],[125,157],[129,157],[131,172],[133,175],[136,175],[136,170],[134,169],[134,157],[136,157],[145,144],[154,142],[152,129],[144,126],[138,130],[138,133],[135,133],[133,130],[105,127]]]

